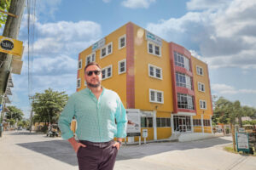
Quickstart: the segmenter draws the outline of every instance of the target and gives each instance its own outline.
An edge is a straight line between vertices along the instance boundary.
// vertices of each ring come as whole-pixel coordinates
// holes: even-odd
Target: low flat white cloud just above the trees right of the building
[[[256,94],[254,89],[236,89],[226,84],[212,84],[211,88],[218,94]]]

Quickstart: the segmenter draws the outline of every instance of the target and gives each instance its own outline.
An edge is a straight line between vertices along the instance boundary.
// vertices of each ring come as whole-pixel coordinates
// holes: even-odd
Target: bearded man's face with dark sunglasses
[[[97,75],[96,73],[99,72]],[[97,88],[101,86],[102,82],[102,71],[100,70],[97,65],[90,65],[89,67],[86,68],[86,71],[84,73],[84,78],[87,83],[87,86],[90,88]]]

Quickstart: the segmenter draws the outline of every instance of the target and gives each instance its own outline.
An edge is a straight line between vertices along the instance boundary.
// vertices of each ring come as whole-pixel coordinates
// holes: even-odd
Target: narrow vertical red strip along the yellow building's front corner
[[[126,108],[135,108],[135,77],[134,77],[134,26],[126,25]]]

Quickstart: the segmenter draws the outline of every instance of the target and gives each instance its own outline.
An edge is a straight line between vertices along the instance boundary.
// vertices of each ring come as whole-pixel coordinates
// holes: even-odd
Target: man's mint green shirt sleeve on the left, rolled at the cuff
[[[68,99],[67,105],[65,105],[64,110],[61,112],[58,124],[61,130],[62,139],[73,138],[73,131],[70,129],[70,123],[73,120],[73,116],[75,115],[74,103],[75,101],[71,96]]]

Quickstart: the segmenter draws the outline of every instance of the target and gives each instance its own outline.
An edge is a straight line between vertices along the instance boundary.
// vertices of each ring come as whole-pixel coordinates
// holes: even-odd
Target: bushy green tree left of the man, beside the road
[[[44,93],[36,93],[33,96],[32,111],[34,122],[57,122],[58,117],[67,103],[68,96],[65,92],[53,91],[51,88]]]

